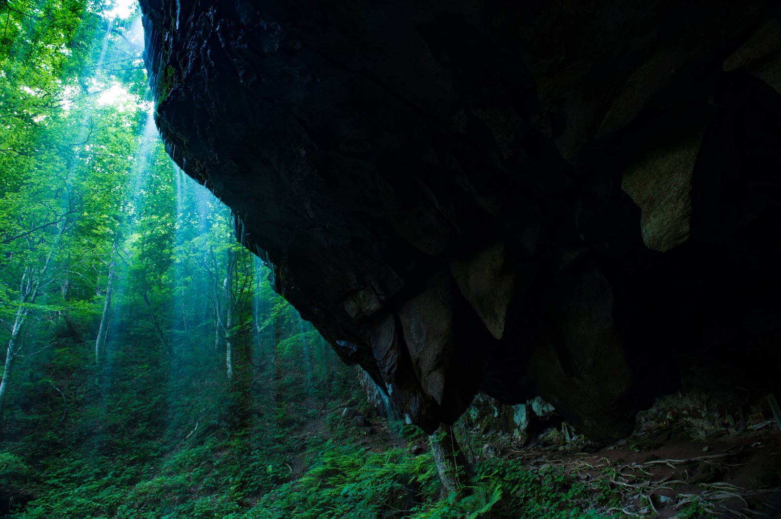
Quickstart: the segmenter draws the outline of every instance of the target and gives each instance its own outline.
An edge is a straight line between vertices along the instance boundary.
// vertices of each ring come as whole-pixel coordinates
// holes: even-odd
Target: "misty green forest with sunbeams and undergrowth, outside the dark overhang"
[[[654,507],[618,461],[586,477],[497,455],[487,435],[515,445],[506,407],[431,437],[395,416],[274,291],[219,186],[169,158],[137,5],[3,0],[0,23],[0,516],[632,517],[627,492]],[[555,452],[586,442],[561,418],[538,427]]]

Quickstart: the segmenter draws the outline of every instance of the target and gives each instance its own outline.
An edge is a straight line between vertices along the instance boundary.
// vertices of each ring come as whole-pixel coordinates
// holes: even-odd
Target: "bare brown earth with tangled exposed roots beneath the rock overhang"
[[[532,471],[560,467],[621,496],[619,517],[781,517],[781,434],[775,425],[699,441],[661,429],[594,450],[588,442],[493,450]],[[682,512],[682,510],[689,510]],[[691,510],[696,510],[692,513]]]

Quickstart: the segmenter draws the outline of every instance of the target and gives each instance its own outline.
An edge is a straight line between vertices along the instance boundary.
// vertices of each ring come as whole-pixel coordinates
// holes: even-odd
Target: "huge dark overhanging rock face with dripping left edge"
[[[427,432],[778,389],[776,2],[141,6],[169,153]]]

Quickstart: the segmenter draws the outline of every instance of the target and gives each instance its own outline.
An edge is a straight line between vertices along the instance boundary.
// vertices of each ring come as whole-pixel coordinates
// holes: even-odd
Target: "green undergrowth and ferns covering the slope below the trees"
[[[20,364],[0,444],[4,517],[609,517],[607,485],[501,458],[476,464],[463,497],[440,496],[432,455],[410,452],[427,442],[418,428],[341,418],[369,405],[356,368],[315,358],[330,354],[321,341],[291,333],[273,363],[239,362],[230,386],[217,355],[173,362],[134,344],[116,345],[110,371],[80,343]]]

